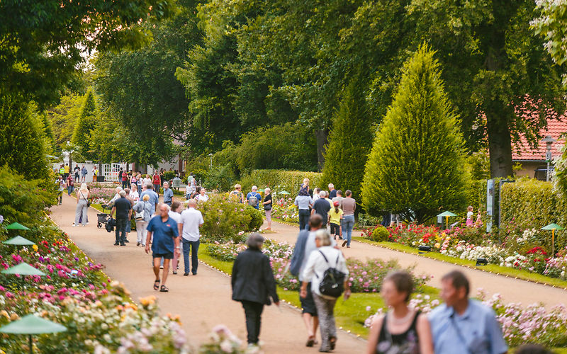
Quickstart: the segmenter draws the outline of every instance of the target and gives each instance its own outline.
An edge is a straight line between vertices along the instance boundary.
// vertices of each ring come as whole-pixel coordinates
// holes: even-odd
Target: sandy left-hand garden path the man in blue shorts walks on
[[[162,314],[179,314],[189,342],[193,346],[208,341],[214,326],[225,324],[240,339],[246,338],[242,307],[231,299],[230,277],[201,264],[198,275],[184,277],[169,275],[169,292],[152,290],[154,276],[151,257],[141,246],[135,246],[135,232],[130,234],[128,246],[113,246],[114,234],[96,228],[96,213],[89,208],[90,223],[86,227],[72,227],[76,200],[64,195],[63,205],[52,207],[52,219],[69,234],[79,248],[98,263],[105,265],[105,273],[113,280],[123,282],[136,302],[140,297],[155,295]],[[366,341],[344,331],[338,333],[335,353],[362,353]],[[281,304],[281,310],[265,307],[260,338],[265,353],[314,353],[317,348],[305,347],[305,330],[297,309]],[[318,336],[319,337],[319,336]]]

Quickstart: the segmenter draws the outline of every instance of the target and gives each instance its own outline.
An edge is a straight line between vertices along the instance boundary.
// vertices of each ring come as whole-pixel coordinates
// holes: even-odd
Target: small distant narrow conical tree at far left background
[[[74,127],[72,137],[72,143],[79,147],[79,153],[89,160],[94,158],[91,132],[96,127],[96,118],[96,101],[92,88],[89,88],[86,91],[81,113],[79,113],[79,118],[77,118],[77,125]]]

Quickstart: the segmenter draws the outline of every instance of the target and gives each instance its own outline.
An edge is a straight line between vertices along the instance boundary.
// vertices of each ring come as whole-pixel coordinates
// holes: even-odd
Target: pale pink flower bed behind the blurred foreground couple
[[[522,307],[522,304],[504,304],[500,295],[488,297],[483,290],[479,290],[478,299],[494,309],[509,346],[533,342],[549,347],[567,346],[567,308],[563,304],[549,311],[543,304],[531,304],[528,307]],[[439,300],[431,299],[427,295],[417,295],[415,299],[410,300],[411,307],[425,313],[438,305]],[[376,314],[369,316],[364,321],[365,326],[371,326],[376,316],[384,311],[385,308],[378,309]]]

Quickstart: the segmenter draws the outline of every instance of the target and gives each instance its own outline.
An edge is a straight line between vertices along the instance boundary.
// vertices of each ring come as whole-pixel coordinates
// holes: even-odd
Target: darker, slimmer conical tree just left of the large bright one
[[[339,110],[332,120],[329,144],[325,152],[322,183],[333,183],[335,188],[352,190],[359,198],[364,166],[372,147],[373,121],[367,110],[360,79],[355,78],[344,90]]]

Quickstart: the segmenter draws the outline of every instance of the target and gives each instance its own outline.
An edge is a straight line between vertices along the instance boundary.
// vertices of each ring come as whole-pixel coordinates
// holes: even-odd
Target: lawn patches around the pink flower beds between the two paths
[[[230,275],[232,273],[232,262],[220,261],[208,254],[208,245],[201,244],[198,252],[199,259],[204,263],[220,270],[223,273]],[[299,294],[295,290],[283,290],[278,287],[278,296],[280,299],[285,300],[289,304],[301,309],[299,302]],[[423,287],[422,295],[430,295],[432,298],[438,298],[439,290],[434,287]],[[368,337],[369,329],[364,327],[364,320],[376,312],[378,308],[384,307],[385,304],[382,297],[376,293],[361,293],[357,292],[344,301],[341,297],[337,300],[335,306],[335,320],[337,326],[349,331],[362,338]],[[370,307],[371,311],[366,311],[366,307]]]

